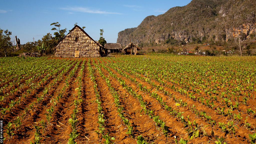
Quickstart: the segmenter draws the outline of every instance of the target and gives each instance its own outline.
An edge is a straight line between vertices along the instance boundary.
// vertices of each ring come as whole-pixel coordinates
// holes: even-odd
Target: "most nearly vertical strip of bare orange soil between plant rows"
[[[98,129],[98,111],[97,104],[95,101],[95,92],[93,89],[93,83],[89,76],[89,71],[87,69],[86,63],[83,70],[82,76],[82,99],[83,102],[81,106],[78,107],[78,133],[80,135],[77,137],[78,143],[88,143],[94,144],[99,143],[100,139],[95,130]]]

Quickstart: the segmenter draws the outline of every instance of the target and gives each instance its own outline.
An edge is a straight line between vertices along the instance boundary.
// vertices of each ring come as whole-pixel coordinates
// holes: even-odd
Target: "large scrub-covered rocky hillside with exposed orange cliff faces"
[[[139,46],[163,43],[222,43],[255,39],[255,0],[192,0],[158,16],[147,16],[136,28],[118,33],[117,43]]]

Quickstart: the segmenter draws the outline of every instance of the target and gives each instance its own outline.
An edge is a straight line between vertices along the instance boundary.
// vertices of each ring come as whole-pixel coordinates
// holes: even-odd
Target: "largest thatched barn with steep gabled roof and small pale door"
[[[56,57],[100,57],[101,46],[81,27],[74,26],[55,47]]]

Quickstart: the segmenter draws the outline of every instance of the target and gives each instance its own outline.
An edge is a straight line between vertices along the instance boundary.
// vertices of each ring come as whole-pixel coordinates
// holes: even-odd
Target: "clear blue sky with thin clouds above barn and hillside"
[[[141,1],[55,1],[55,0],[1,0],[0,28],[17,35],[21,44],[41,39],[59,22],[61,29],[68,30],[75,23],[94,40],[99,40],[100,29],[107,43],[116,43],[118,32],[137,27],[150,15],[160,15],[175,6],[187,5],[190,0],[141,0]],[[67,34],[66,33],[66,34]]]

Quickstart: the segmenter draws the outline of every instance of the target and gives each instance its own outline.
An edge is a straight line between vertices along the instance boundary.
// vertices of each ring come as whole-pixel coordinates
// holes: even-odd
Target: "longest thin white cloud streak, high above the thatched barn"
[[[81,13],[92,13],[92,14],[119,14],[121,13],[114,13],[114,12],[105,12],[105,11],[100,11],[97,9],[89,9],[85,7],[66,7],[66,8],[60,8],[63,10],[68,10],[68,11],[73,11],[73,12],[81,12]]]

